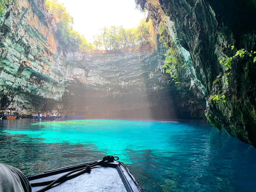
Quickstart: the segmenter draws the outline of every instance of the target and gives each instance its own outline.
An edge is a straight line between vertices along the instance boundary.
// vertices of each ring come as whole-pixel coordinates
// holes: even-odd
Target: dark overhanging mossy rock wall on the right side
[[[208,121],[256,146],[255,64],[249,58],[233,61],[228,84],[226,66],[220,64],[222,57],[235,54],[232,45],[255,51],[255,2],[147,0],[143,6],[176,44],[191,72],[194,92],[206,96]],[[213,101],[214,94],[224,94],[226,103]]]

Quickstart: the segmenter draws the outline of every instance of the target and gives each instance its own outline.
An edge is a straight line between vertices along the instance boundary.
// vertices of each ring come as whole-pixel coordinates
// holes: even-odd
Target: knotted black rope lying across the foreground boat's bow
[[[77,177],[77,176],[79,176],[83,173],[91,172],[91,170],[93,168],[96,168],[95,166],[100,165],[101,163],[103,163],[105,161],[113,162],[114,160],[117,161],[118,159],[119,159],[119,157],[117,157],[117,156],[107,155],[107,156],[104,156],[101,161],[99,161],[95,164],[92,164],[92,165],[88,164],[85,168],[80,168],[80,169],[76,169],[76,170],[73,170],[71,172],[68,172],[68,173],[66,173],[65,175],[62,175],[61,177],[59,177],[56,180],[43,181],[43,182],[38,182],[38,183],[31,183],[31,186],[36,187],[36,186],[47,185],[44,188],[41,188],[41,189],[36,191],[36,192],[44,192],[44,191],[47,191],[48,189],[52,188],[52,186],[57,184],[57,183],[60,184],[60,183],[63,183],[67,180],[73,179],[73,178],[75,178],[75,177]],[[71,175],[72,173],[75,173],[75,174]]]

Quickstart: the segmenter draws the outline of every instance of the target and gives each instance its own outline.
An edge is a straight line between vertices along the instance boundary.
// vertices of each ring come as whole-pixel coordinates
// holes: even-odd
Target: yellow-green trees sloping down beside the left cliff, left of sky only
[[[57,37],[66,47],[75,47],[83,50],[95,49],[91,43],[87,43],[84,36],[72,29],[74,19],[69,15],[63,3],[58,0],[45,1],[45,7],[54,15],[57,25]]]

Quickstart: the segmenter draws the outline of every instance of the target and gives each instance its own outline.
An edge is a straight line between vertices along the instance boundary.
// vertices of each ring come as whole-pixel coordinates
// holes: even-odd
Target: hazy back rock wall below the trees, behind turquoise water
[[[170,75],[163,74],[158,52],[116,54],[69,53],[65,61],[69,85],[59,110],[77,111],[87,117],[203,118],[205,99],[187,93],[180,100]],[[180,105],[178,105],[178,103]]]

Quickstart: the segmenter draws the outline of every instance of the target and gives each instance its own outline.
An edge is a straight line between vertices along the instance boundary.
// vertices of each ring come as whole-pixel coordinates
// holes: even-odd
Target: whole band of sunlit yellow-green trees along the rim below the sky
[[[0,0],[1,1],[1,0]],[[93,36],[93,44],[88,43],[84,36],[72,29],[73,17],[58,0],[46,0],[45,7],[53,14],[57,25],[57,37],[64,47],[80,48],[83,50],[98,50],[104,47],[106,51],[128,51],[136,46],[144,47],[151,43],[150,31],[153,29],[152,21],[146,18],[140,21],[137,28],[124,29],[122,26],[111,26],[100,29],[100,34]],[[141,10],[143,11],[143,10]]]

